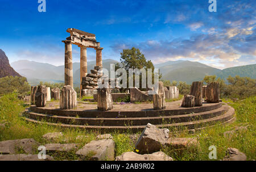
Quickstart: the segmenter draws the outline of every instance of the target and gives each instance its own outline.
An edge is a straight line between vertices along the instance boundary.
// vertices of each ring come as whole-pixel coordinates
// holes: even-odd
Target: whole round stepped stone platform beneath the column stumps
[[[142,131],[147,123],[158,127],[175,127],[189,130],[228,123],[234,120],[234,109],[223,105],[203,103],[203,106],[182,108],[181,101],[167,102],[166,109],[154,110],[153,104],[115,104],[109,111],[97,110],[97,104],[79,102],[77,109],[61,110],[59,102],[48,102],[44,108],[31,106],[26,109],[25,119],[51,125],[80,127],[100,131]]]

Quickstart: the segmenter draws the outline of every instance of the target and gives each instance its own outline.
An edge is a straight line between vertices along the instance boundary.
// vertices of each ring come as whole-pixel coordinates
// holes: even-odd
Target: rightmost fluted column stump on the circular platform
[[[205,96],[207,97],[206,101],[209,103],[220,102],[220,87],[218,82],[212,82],[207,85]]]

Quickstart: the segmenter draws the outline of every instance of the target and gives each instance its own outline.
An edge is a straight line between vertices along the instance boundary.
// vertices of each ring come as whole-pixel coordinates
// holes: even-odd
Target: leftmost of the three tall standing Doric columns
[[[72,43],[71,41],[63,42],[65,43],[65,85],[73,87]]]

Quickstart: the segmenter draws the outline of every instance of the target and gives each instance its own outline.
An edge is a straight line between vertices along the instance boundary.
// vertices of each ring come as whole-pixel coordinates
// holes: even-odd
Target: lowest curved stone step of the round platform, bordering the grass
[[[217,117],[203,119],[199,121],[193,121],[193,122],[181,122],[181,123],[171,123],[171,124],[157,124],[156,126],[159,128],[172,128],[175,127],[177,130],[191,130],[191,129],[202,129],[206,126],[213,126],[214,124],[226,124],[231,123],[234,121],[236,117],[234,117],[234,109],[230,106],[228,106],[228,111],[226,111],[225,114],[222,114]],[[141,132],[144,130],[143,126],[82,126],[82,125],[75,125],[75,124],[60,124],[60,123],[50,123],[50,122],[41,122],[36,121],[35,119],[30,119],[24,117],[24,119],[28,122],[33,123],[46,123],[51,126],[60,126],[60,127],[67,127],[67,128],[81,128],[85,130],[92,130],[92,131],[99,131],[99,132]]]

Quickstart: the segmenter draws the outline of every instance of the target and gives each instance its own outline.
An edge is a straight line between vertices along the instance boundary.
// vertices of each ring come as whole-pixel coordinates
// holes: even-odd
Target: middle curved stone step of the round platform
[[[163,117],[143,117],[143,118],[82,118],[82,117],[60,117],[56,115],[39,114],[26,109],[27,117],[39,121],[48,121],[63,124],[89,125],[89,126],[142,126],[151,124],[170,124],[181,122],[192,122],[200,119],[217,117],[228,111],[228,106],[205,111],[202,113],[192,113],[183,115],[170,115]]]

